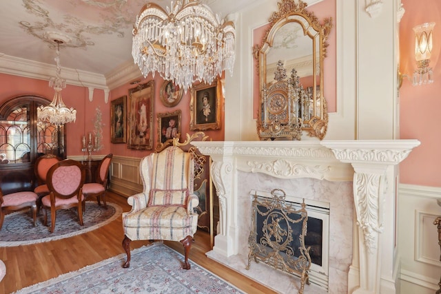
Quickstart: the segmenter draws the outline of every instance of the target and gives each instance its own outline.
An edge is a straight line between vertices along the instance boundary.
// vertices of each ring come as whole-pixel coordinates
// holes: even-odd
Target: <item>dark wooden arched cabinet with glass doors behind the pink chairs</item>
[[[41,96],[10,98],[0,106],[0,179],[3,193],[34,189],[34,162],[43,154],[65,158],[65,127],[37,121]]]

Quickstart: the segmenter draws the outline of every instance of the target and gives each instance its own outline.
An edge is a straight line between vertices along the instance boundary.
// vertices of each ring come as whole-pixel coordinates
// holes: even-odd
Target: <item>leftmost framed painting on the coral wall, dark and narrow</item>
[[[125,143],[125,122],[127,114],[127,96],[112,101],[110,107],[110,136],[112,143]]]

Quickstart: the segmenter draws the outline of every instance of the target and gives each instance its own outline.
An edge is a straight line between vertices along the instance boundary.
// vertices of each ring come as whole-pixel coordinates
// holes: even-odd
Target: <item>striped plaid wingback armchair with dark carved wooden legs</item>
[[[130,266],[132,240],[180,241],[185,250],[184,269],[190,269],[188,255],[198,225],[194,208],[199,199],[193,193],[194,161],[190,153],[168,147],[140,162],[142,193],[130,196],[132,210],[123,213],[123,248]]]

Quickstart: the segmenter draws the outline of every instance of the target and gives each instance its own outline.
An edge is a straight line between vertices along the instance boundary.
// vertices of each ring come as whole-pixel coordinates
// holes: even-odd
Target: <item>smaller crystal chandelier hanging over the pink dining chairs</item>
[[[50,105],[41,105],[37,108],[37,118],[40,122],[51,123],[52,125],[64,125],[65,123],[75,122],[76,110],[66,107],[63,103],[63,98],[61,98],[61,90],[66,87],[66,81],[61,78],[61,67],[60,67],[60,44],[63,41],[54,40],[57,43],[57,56],[55,57],[55,62],[57,63],[57,73],[55,77],[50,78],[49,87],[53,87],[55,90],[54,98]]]

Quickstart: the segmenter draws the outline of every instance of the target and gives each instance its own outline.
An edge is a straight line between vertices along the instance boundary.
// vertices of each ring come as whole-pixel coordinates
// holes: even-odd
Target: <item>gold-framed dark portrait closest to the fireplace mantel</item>
[[[198,84],[191,89],[190,130],[220,129],[222,90],[219,79],[211,85]]]

